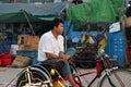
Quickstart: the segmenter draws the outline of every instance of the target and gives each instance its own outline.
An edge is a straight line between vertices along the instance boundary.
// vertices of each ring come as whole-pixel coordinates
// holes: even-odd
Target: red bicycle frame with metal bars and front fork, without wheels
[[[109,60],[108,60],[108,57],[106,58],[105,54],[102,54],[99,57],[99,59],[96,60],[96,70],[95,71],[88,71],[86,73],[81,73],[79,70],[75,69],[75,65],[72,63],[72,66],[73,66],[73,70],[75,71],[76,75],[73,75],[73,78],[75,80],[75,83],[79,85],[79,87],[83,87],[81,82],[78,82],[76,80],[76,77],[83,77],[86,80],[86,78],[84,77],[85,75],[91,75],[91,74],[95,74],[95,77],[88,83],[87,82],[87,87],[92,87],[93,83],[96,80],[96,78],[103,78],[104,75],[106,74],[107,77],[108,77],[108,80],[109,80],[109,84],[110,86],[115,87],[115,85],[112,84],[112,82],[110,82],[110,77],[109,77],[109,74],[111,74],[111,72],[114,72],[114,70],[117,70],[118,66],[112,66],[110,63],[109,63]],[[43,85],[45,87],[48,87],[46,86],[45,84],[47,83],[52,83],[55,79],[49,79],[49,80],[44,80],[44,82],[39,82],[39,83],[31,83],[31,77],[29,77],[29,70],[26,69],[26,73],[28,74],[27,75],[27,79],[28,79],[28,83],[27,83],[27,86],[34,86],[34,85]],[[64,87],[64,85],[61,84],[61,82],[59,82],[60,79],[64,79],[67,80],[67,78],[63,78],[62,75],[60,74],[60,72],[58,72],[58,70],[55,70],[56,73],[59,75],[56,79],[58,80],[58,84],[61,86],[61,87]],[[103,74],[102,72],[105,71],[105,74]],[[120,79],[120,77],[117,75],[117,73],[114,73],[116,78],[120,82],[120,85],[122,87],[124,87],[124,84],[122,83],[122,80]]]

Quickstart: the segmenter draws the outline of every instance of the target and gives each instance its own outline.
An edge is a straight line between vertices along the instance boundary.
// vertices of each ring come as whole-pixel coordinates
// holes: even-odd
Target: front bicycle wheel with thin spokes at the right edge
[[[111,70],[105,74],[98,87],[131,87],[131,71],[126,69]]]

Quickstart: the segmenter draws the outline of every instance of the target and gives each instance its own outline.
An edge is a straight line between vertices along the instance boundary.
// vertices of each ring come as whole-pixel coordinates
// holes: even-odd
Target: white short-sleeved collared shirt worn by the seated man
[[[47,59],[45,52],[59,55],[60,51],[64,51],[63,37],[61,35],[56,39],[50,30],[40,37],[38,45],[38,61],[45,61]]]

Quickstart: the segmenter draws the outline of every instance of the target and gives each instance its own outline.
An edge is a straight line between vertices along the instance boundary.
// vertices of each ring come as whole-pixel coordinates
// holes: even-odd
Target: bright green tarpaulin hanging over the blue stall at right
[[[93,0],[67,9],[68,20],[78,23],[116,22],[119,10],[123,9],[123,0]],[[80,25],[79,25],[80,26]]]

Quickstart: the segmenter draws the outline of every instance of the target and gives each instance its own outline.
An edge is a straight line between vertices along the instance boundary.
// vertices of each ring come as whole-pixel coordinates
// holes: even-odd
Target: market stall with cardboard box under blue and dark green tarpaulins
[[[10,40],[8,50],[3,48],[3,39],[0,38],[0,54],[4,52],[37,58],[38,41],[41,34],[49,30],[48,26],[55,17],[60,17],[60,13],[64,10],[66,2],[48,3],[48,4],[28,4],[28,3],[10,3],[0,5],[0,37],[12,35],[5,38]],[[5,35],[3,35],[3,33]],[[9,42],[8,42],[9,44]],[[3,50],[1,50],[3,49]],[[35,52],[35,55],[34,55]],[[22,58],[21,57],[21,58]],[[9,59],[11,60],[11,59]],[[23,58],[24,60],[24,58]],[[20,60],[17,60],[20,61]],[[29,60],[31,61],[31,60]],[[33,61],[33,60],[32,60]],[[2,65],[2,61],[0,58]],[[11,61],[12,62],[12,61]],[[10,65],[11,62],[7,65]],[[25,63],[25,62],[24,62]],[[31,63],[31,62],[29,62]]]

